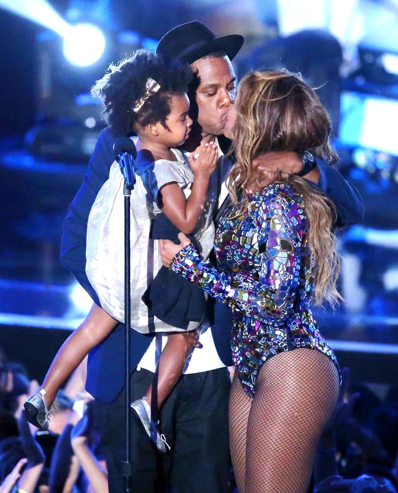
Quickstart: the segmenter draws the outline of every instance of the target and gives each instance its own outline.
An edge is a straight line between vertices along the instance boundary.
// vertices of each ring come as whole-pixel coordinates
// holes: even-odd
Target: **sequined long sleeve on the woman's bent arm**
[[[255,214],[258,241],[253,267],[245,274],[219,272],[202,261],[192,243],[174,257],[170,268],[234,311],[265,321],[282,320],[299,284],[307,218],[300,201],[280,193],[261,202]]]

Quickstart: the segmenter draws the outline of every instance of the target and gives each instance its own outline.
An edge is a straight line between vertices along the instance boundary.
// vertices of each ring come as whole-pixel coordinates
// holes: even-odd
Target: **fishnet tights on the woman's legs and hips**
[[[235,376],[230,443],[239,493],[306,493],[322,430],[339,395],[335,364],[315,349],[271,357],[251,401]]]

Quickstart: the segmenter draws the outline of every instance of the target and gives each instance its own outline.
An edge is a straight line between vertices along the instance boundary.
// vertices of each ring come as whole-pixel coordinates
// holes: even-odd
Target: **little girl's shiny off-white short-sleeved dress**
[[[161,212],[156,200],[158,191],[163,185],[176,182],[186,198],[191,193],[193,173],[182,153],[177,149],[172,151],[177,161],[155,161],[140,174],[137,173],[137,182],[130,196],[131,326],[141,333],[186,330],[152,316],[141,299],[162,267],[158,242],[149,237],[151,219]],[[109,179],[99,190],[92,205],[86,245],[88,280],[102,308],[120,322],[125,321],[123,189],[123,174],[115,161]],[[213,208],[210,200],[207,200],[194,231],[205,259],[213,248],[214,232]],[[198,322],[190,322],[187,330],[199,325]]]

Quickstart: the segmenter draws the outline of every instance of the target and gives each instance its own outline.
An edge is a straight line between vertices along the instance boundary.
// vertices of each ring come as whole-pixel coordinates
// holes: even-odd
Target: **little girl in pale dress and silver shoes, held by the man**
[[[194,232],[205,256],[210,253],[214,239],[213,214],[206,195],[217,163],[217,147],[210,143],[196,159],[189,156],[189,166],[176,149],[188,137],[192,124],[186,95],[191,77],[188,66],[169,67],[154,53],[139,50],[119,66],[111,65],[92,89],[105,105],[103,114],[112,133],[137,136],[138,176],[131,194],[131,323],[143,333],[166,332],[168,339],[158,362],[156,388],[132,403],[132,408],[163,452],[167,450],[165,440],[151,419],[151,406],[160,409],[182,373],[192,346],[197,345],[195,335],[202,314],[196,314],[193,321],[188,318],[177,327],[154,315],[162,311],[155,305],[164,301],[172,286],[163,286],[161,300],[154,300],[149,294],[147,303],[153,311],[142,301],[148,280],[161,267],[151,225],[153,230],[158,223],[170,229],[167,220],[157,221],[165,215],[177,230]],[[41,429],[48,429],[51,404],[63,381],[87,352],[112,331],[118,323],[116,320],[124,322],[123,183],[115,162],[109,180],[92,206],[88,222],[87,276],[106,311],[92,306],[84,322],[59,349],[40,392],[25,403],[27,419]],[[189,316],[189,310],[186,311]]]

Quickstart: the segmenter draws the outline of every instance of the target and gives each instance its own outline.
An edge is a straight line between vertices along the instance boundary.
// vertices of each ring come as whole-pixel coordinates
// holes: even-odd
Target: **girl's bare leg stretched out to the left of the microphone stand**
[[[43,381],[45,403],[51,407],[62,383],[81,363],[86,354],[116,327],[118,322],[93,304],[84,321],[59,348]]]

